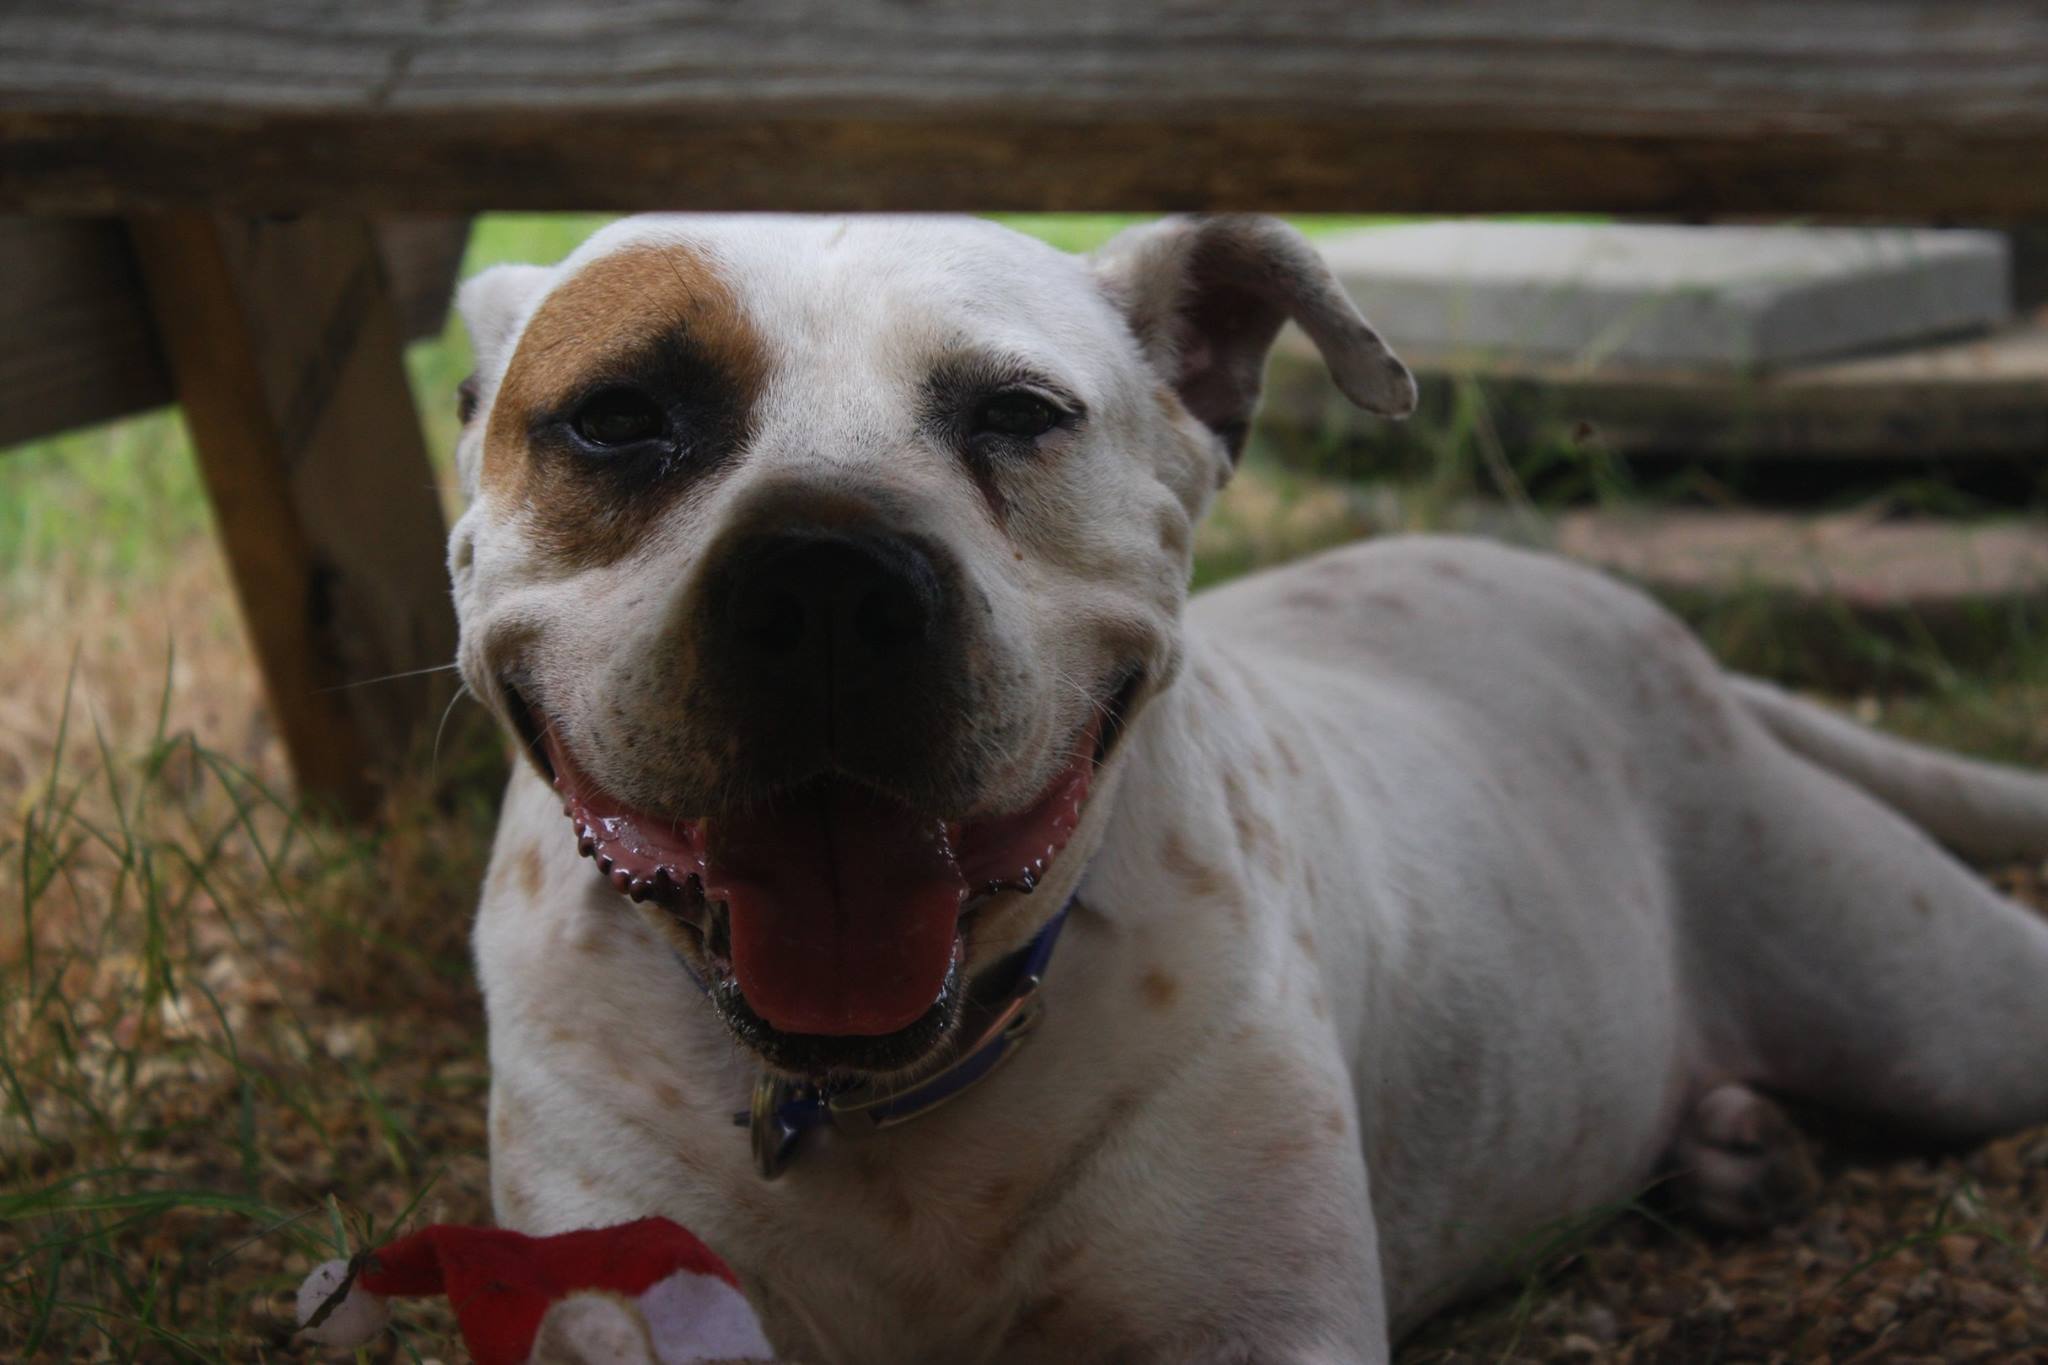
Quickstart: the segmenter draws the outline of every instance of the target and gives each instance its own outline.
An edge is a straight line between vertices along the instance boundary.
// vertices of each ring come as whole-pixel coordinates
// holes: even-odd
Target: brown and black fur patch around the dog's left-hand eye
[[[520,336],[483,430],[483,495],[520,510],[565,569],[631,553],[705,469],[745,442],[768,346],[713,262],[684,244],[590,262]],[[637,389],[684,413],[676,458],[575,448],[567,420],[602,389]],[[651,456],[651,452],[649,452]]]

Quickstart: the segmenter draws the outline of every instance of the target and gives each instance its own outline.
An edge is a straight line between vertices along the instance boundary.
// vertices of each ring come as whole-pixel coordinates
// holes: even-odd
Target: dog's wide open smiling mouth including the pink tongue
[[[1028,806],[963,819],[913,810],[844,776],[743,810],[672,817],[604,792],[553,726],[539,751],[580,851],[618,892],[655,902],[688,931],[686,958],[735,1031],[756,1046],[795,1042],[762,1038],[760,1025],[819,1042],[920,1033],[930,1044],[956,1015],[975,911],[997,892],[1032,890],[1067,847],[1135,692],[1130,675],[1092,710]]]

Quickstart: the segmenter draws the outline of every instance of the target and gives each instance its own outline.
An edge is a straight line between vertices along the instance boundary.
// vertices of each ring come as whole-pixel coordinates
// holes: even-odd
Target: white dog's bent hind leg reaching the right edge
[[[2048,919],[1790,749],[1743,759],[1681,851],[1708,1058],[1925,1138],[2048,1121]]]

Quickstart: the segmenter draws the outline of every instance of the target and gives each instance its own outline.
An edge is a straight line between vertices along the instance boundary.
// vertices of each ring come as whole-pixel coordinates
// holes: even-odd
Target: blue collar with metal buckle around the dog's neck
[[[969,997],[961,1027],[977,1031],[952,1062],[918,1085],[889,1091],[862,1083],[819,1087],[784,1076],[760,1076],[754,1083],[754,1107],[733,1115],[733,1124],[754,1138],[754,1169],[760,1177],[772,1181],[782,1175],[797,1154],[797,1144],[813,1128],[836,1128],[846,1134],[895,1128],[936,1109],[993,1072],[1038,1023],[1042,1009],[1038,986],[1044,982],[1044,968],[1053,960],[1053,945],[1059,943],[1059,931],[1071,909],[1073,900],[1067,900],[1022,954],[995,968],[999,980],[989,997]]]

